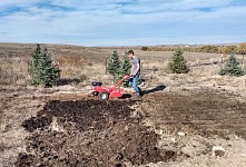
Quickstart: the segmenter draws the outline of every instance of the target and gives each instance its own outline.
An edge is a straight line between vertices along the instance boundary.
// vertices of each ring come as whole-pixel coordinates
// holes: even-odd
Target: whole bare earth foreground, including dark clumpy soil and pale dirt
[[[163,88],[163,87],[161,87]],[[100,101],[86,90],[2,91],[2,166],[244,166],[246,107],[238,95],[148,89]],[[67,92],[67,94],[65,94]],[[214,146],[226,154],[214,157]]]

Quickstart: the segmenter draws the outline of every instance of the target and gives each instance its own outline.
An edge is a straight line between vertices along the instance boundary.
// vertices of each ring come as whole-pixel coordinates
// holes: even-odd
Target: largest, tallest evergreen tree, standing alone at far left
[[[33,86],[53,86],[60,79],[59,67],[52,63],[51,55],[47,48],[41,48],[40,45],[37,45],[31,56],[29,73],[31,76],[30,84]]]

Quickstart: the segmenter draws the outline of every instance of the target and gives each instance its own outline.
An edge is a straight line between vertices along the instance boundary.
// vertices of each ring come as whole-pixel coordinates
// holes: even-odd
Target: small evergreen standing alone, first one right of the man
[[[185,60],[183,56],[183,50],[177,49],[175,50],[171,61],[168,65],[168,68],[170,69],[171,72],[174,73],[187,73],[189,71],[189,67],[187,65],[187,61]]]

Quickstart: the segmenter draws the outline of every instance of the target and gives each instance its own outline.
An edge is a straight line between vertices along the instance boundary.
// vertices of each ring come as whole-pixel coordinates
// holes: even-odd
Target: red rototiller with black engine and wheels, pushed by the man
[[[108,98],[120,98],[122,97],[124,92],[120,89],[120,85],[126,80],[129,79],[130,76],[125,76],[119,82],[117,82],[112,87],[102,86],[102,82],[94,81],[92,86],[92,95],[98,96],[102,100],[108,100]]]

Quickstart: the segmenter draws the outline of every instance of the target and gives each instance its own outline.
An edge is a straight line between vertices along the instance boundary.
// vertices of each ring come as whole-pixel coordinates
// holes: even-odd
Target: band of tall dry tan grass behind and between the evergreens
[[[66,84],[87,85],[92,80],[111,84],[112,78],[106,75],[106,56],[108,60],[116,50],[122,57],[128,49],[134,49],[142,62],[142,73],[170,76],[170,79],[179,80],[180,84],[196,84],[197,81],[209,80],[216,76],[222,68],[220,53],[184,52],[184,57],[190,66],[187,75],[170,75],[168,62],[173,51],[142,51],[139,48],[86,48],[68,45],[41,45],[52,55],[55,63],[61,69],[61,79]],[[28,61],[36,45],[23,43],[0,43],[0,85],[27,86],[29,80]],[[242,56],[237,56],[242,61]],[[246,67],[244,66],[246,69]],[[173,77],[171,77],[173,76]],[[216,79],[218,85],[225,85],[224,78]]]

